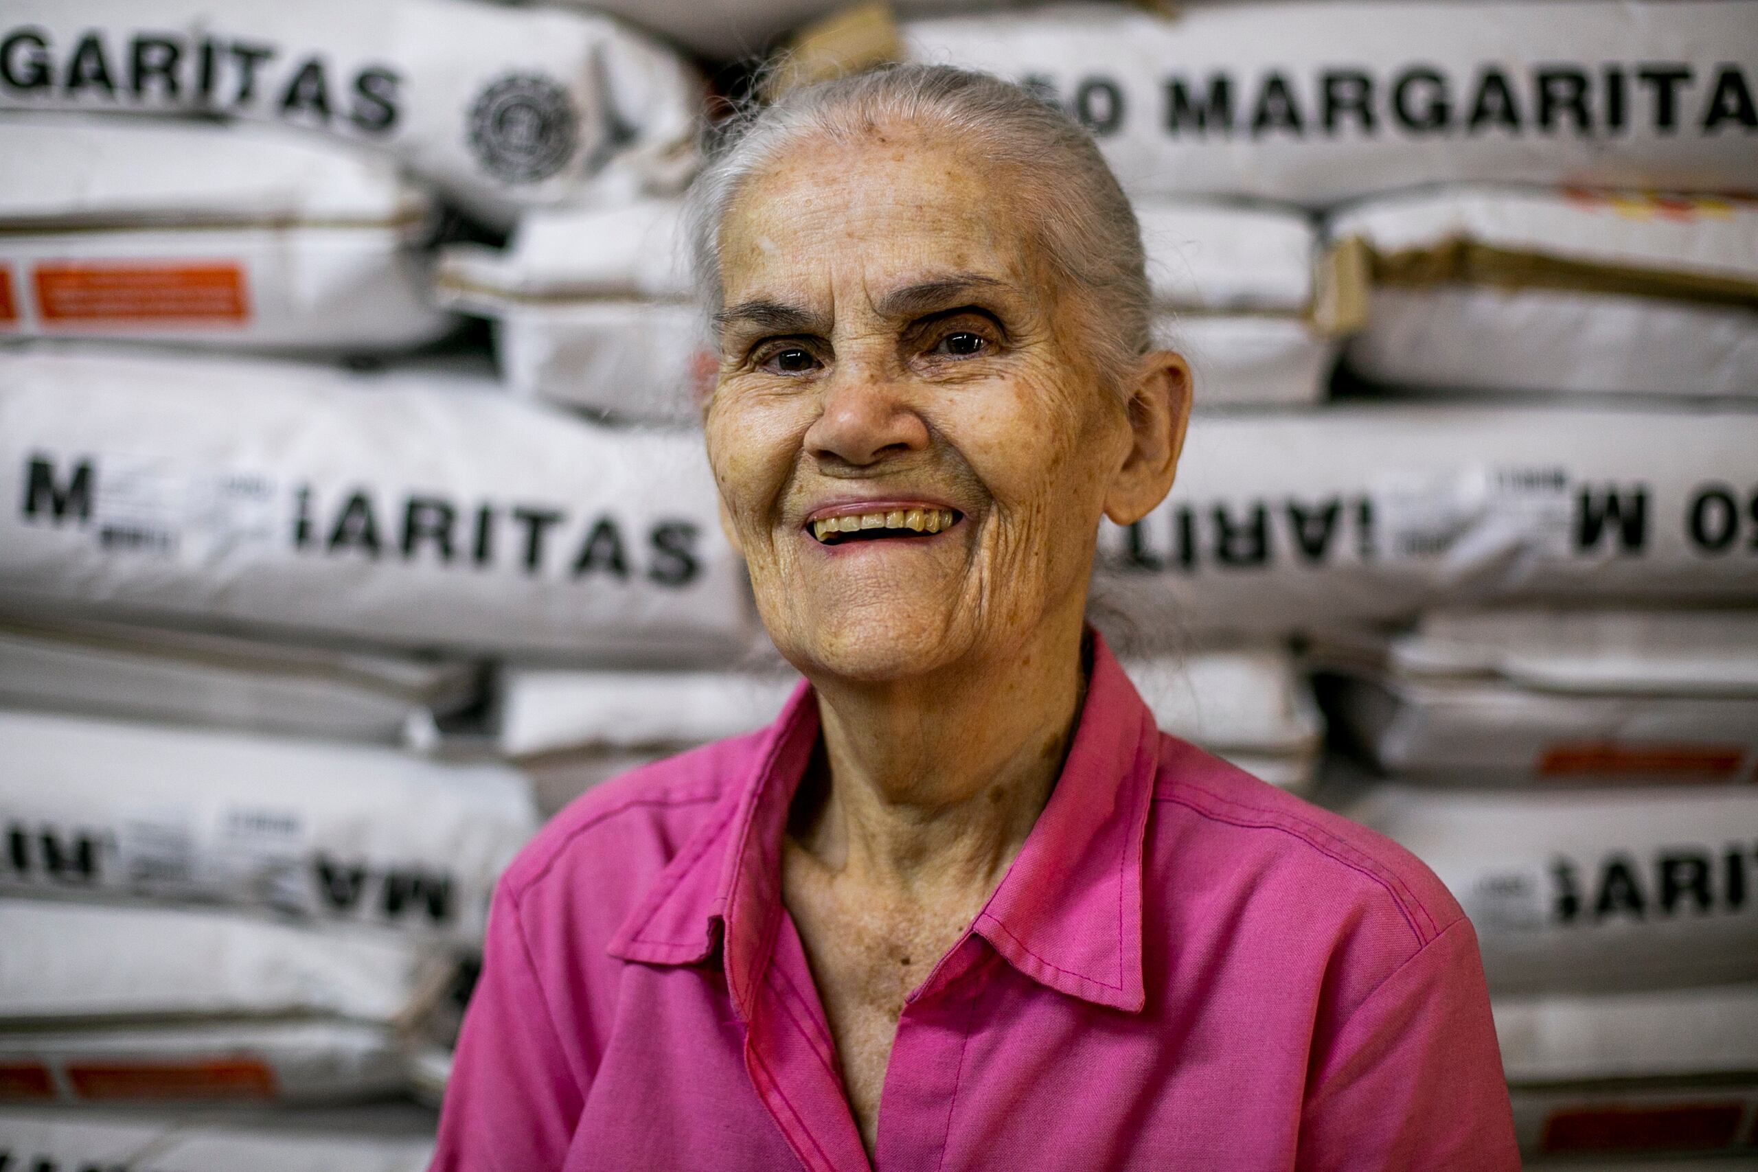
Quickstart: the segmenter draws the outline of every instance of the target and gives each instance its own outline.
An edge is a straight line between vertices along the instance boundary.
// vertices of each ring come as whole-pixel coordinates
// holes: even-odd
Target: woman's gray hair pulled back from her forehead
[[[1129,197],[1092,135],[1062,109],[992,74],[949,65],[891,65],[835,77],[737,114],[686,207],[703,306],[721,309],[721,221],[751,176],[800,139],[854,142],[884,123],[948,134],[1021,176],[1020,207],[1050,264],[1085,295],[1095,365],[1120,388],[1150,350],[1151,316],[1141,225]]]

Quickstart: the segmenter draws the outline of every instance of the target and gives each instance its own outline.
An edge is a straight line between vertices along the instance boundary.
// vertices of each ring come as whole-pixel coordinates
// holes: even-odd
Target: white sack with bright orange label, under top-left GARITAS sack
[[[0,114],[0,337],[401,350],[440,337],[429,200],[267,127]]]

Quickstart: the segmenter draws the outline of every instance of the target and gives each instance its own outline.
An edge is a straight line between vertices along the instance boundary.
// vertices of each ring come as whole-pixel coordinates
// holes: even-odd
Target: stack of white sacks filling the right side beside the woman
[[[904,42],[1064,104],[1150,232],[1166,200],[1320,218],[1329,401],[1204,413],[1199,383],[1171,499],[1102,534],[1102,594],[1150,638],[1318,652],[1334,740],[1382,778],[1320,796],[1471,914],[1528,1153],[1749,1144],[1751,12],[1060,5]],[[1201,380],[1195,325],[1171,337]]]

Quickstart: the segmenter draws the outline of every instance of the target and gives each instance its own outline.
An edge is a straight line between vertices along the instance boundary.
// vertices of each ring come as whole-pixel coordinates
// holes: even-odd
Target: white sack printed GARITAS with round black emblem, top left
[[[603,16],[473,0],[12,0],[0,107],[222,114],[381,148],[462,207],[670,186],[700,79]]]

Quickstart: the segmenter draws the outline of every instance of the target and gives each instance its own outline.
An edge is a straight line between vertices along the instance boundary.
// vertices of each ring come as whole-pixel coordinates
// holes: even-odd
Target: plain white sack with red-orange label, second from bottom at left
[[[454,963],[376,933],[0,900],[9,1098],[348,1098],[406,1081]]]

